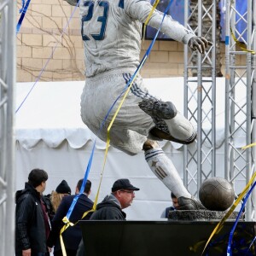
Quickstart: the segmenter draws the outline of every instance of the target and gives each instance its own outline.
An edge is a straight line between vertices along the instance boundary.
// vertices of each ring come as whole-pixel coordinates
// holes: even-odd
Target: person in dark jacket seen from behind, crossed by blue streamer
[[[76,189],[75,195],[64,196],[61,200],[61,204],[55,213],[55,217],[52,220],[52,230],[49,234],[49,239],[47,241],[48,247],[54,247],[54,255],[62,256],[61,250],[61,241],[60,241],[60,232],[61,228],[64,225],[62,219],[67,216],[67,212],[73,203],[73,199],[76,195],[79,194],[79,191],[82,187],[83,179],[80,179]],[[91,182],[90,180],[86,181],[84,186],[84,191],[79,195],[78,200],[76,201],[75,206],[73,207],[73,212],[70,215],[69,221],[73,223],[73,226],[69,226],[61,236],[63,238],[64,246],[66,249],[67,256],[75,256],[77,249],[79,247],[79,242],[82,238],[82,231],[79,227],[79,224],[76,224],[84,215],[84,212],[91,210],[93,207],[93,202],[88,197],[90,195]],[[84,219],[89,219],[90,214],[86,215]]]

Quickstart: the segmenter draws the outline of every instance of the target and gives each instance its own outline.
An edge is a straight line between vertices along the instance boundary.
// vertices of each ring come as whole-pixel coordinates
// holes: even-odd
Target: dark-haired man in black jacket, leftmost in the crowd
[[[28,175],[25,189],[16,192],[16,256],[48,255],[46,246],[50,225],[43,192],[48,174],[34,169]]]

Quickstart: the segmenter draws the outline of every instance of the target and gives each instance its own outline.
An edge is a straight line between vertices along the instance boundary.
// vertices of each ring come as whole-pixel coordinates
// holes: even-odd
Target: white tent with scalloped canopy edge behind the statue
[[[183,78],[144,81],[153,95],[162,100],[171,100],[183,112]],[[224,149],[221,145],[224,142],[224,79],[218,79],[217,85],[217,162],[219,176],[223,177]],[[103,168],[106,143],[96,139],[80,119],[79,103],[83,87],[84,81],[17,84],[17,189],[23,188],[27,175],[33,168],[42,168],[49,173],[46,194],[54,190],[62,179],[67,180],[74,192],[79,178],[84,177],[92,145],[96,140],[96,151],[89,175],[92,182],[90,198],[94,201]],[[31,93],[27,96],[30,90]],[[243,100],[243,96],[240,97]],[[207,123],[203,125],[210,127]],[[170,142],[162,142],[160,145],[173,160],[178,172],[183,175],[181,145]],[[238,137],[237,146],[243,145],[244,138]],[[128,177],[131,183],[141,189],[136,193],[133,206],[126,210],[128,219],[159,218],[164,208],[170,206],[170,191],[150,171],[143,151],[136,156],[129,156],[113,147],[109,148],[99,201],[110,192],[113,182],[120,177]]]

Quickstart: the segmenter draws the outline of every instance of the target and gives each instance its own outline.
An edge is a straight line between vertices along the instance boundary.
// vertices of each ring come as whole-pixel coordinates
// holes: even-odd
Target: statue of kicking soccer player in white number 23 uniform
[[[76,0],[66,1],[77,4]],[[159,28],[161,25],[161,32],[201,54],[210,43],[170,15],[163,20],[164,14],[158,10],[148,19],[153,9],[148,1],[80,1],[79,8],[86,67],[80,103],[84,124],[103,141],[107,142],[110,137],[110,144],[126,154],[135,155],[144,150],[148,166],[177,195],[179,207],[201,209],[201,202],[190,195],[172,161],[156,143],[163,139],[193,143],[196,131],[172,102],[163,102],[151,95],[143,78],[135,73],[140,64],[142,26],[146,20],[148,26]],[[122,102],[128,85],[130,90]]]

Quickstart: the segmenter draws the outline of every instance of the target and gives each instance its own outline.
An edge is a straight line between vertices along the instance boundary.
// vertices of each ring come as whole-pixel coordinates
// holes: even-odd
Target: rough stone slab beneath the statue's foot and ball
[[[227,212],[218,212],[210,210],[183,210],[170,211],[169,220],[189,220],[189,221],[212,221],[220,220]],[[238,212],[232,212],[227,220],[236,220]],[[242,218],[242,217],[241,217]]]

